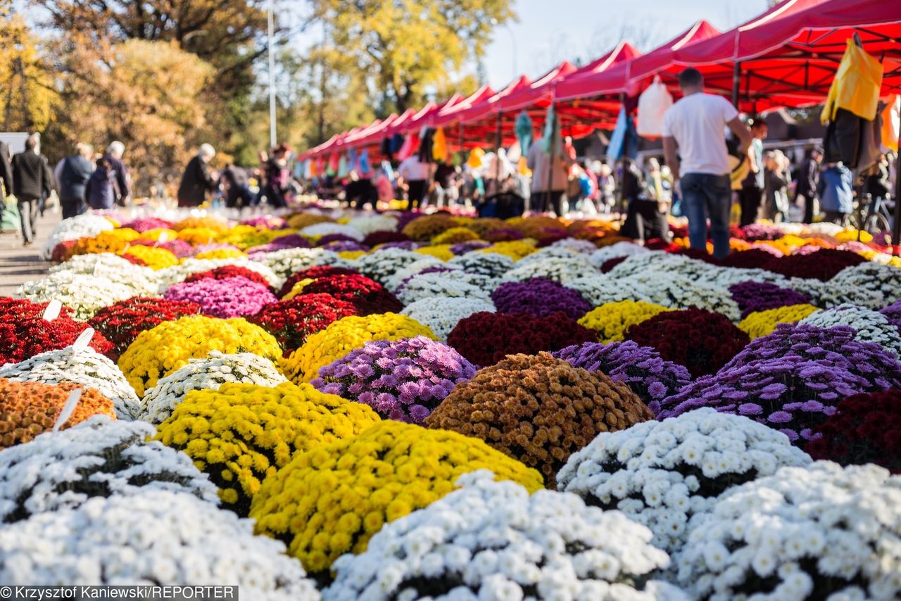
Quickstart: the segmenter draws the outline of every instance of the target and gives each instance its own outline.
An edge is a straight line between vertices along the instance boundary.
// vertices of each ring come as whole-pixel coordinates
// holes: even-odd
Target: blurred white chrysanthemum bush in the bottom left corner
[[[262,601],[313,601],[311,580],[285,546],[196,496],[147,490],[95,497],[0,529],[7,585],[222,585]]]

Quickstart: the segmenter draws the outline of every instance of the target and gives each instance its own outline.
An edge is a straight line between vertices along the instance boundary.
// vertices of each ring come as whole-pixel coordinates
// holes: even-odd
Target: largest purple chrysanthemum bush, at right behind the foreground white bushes
[[[842,326],[780,324],[715,375],[649,407],[659,418],[714,407],[766,423],[792,442],[811,440],[842,398],[901,386],[901,362],[854,334]]]

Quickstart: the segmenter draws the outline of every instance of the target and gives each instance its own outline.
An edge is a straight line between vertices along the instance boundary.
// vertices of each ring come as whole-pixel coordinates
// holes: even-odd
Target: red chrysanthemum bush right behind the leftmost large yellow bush
[[[171,322],[185,315],[196,314],[200,314],[200,305],[192,301],[133,296],[105,306],[97,311],[88,323],[112,341],[112,348],[106,351],[105,355],[112,360],[118,360],[119,355],[125,352],[144,330],[150,330],[160,323]]]

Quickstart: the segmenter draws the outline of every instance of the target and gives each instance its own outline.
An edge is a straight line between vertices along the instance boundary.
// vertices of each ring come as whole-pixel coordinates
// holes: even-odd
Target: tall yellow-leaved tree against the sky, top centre
[[[398,112],[423,102],[469,60],[492,29],[514,18],[510,0],[312,0],[332,51]]]

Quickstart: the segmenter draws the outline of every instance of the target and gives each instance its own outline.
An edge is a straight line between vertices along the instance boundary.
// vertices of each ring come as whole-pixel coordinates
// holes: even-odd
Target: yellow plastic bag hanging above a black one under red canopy
[[[820,114],[826,123],[835,118],[843,108],[857,116],[872,121],[879,104],[879,88],[882,87],[882,64],[849,39],[842,63],[835,72],[833,85]]]

